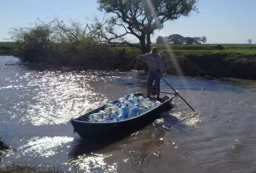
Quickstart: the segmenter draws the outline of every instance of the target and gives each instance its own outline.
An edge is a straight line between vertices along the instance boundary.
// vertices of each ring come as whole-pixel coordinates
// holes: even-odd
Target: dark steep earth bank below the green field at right
[[[256,54],[231,52],[182,54],[164,51],[162,56],[168,74],[256,79]],[[179,64],[180,67],[175,64]],[[179,73],[178,68],[182,74]]]

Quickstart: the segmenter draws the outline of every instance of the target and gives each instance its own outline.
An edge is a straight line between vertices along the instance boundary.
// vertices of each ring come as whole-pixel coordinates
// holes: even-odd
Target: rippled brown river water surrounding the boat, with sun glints
[[[1,156],[1,166],[15,162],[64,172],[256,172],[256,81],[164,75],[196,113],[176,97],[173,109],[154,123],[96,145],[74,134],[69,119],[122,95],[145,93],[145,73],[53,69],[0,56],[0,74],[0,137],[12,146]],[[173,92],[164,81],[161,88]]]

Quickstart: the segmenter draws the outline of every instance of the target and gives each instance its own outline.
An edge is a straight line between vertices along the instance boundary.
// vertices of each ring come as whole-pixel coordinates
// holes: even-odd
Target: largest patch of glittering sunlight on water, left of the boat
[[[31,71],[20,79],[30,79],[23,88],[27,93],[23,97],[32,97],[27,105],[27,113],[21,120],[30,121],[34,125],[66,123],[70,118],[107,102],[97,88],[106,85],[106,78],[100,76],[100,73],[63,74],[44,71],[38,74]]]

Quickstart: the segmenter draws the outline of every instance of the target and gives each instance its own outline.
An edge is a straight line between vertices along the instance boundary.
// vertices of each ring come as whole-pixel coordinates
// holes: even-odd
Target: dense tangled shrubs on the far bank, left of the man
[[[16,30],[17,56],[22,61],[86,69],[127,69],[132,62],[125,49],[111,49],[93,37],[74,38],[60,33],[50,24],[26,28],[26,32]],[[60,39],[56,41],[56,37]]]

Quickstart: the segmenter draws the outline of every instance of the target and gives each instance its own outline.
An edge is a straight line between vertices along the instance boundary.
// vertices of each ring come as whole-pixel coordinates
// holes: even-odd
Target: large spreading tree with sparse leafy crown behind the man
[[[174,21],[198,12],[198,0],[97,0],[100,11],[111,14],[106,27],[101,27],[101,42],[140,48],[142,53],[150,51],[150,37],[155,30],[162,29],[166,21]],[[138,38],[140,44],[127,41],[127,35]]]

